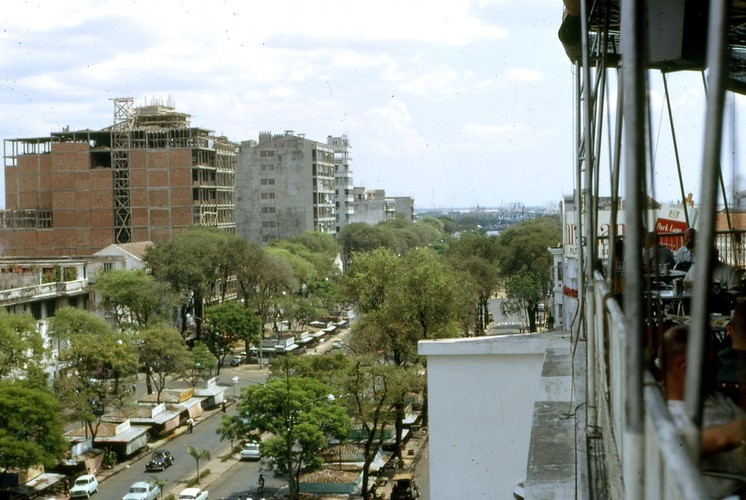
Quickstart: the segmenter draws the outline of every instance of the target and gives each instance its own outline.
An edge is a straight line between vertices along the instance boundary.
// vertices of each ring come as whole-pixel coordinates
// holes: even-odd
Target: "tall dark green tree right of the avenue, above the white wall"
[[[499,239],[500,275],[506,280],[503,314],[523,311],[529,331],[535,332],[536,315],[549,294],[552,258],[547,248],[562,239],[559,217],[522,222],[504,231]]]

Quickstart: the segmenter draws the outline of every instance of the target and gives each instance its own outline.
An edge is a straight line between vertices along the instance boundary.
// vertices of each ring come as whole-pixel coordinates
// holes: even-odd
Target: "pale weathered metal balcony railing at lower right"
[[[619,498],[629,490],[641,492],[641,499],[707,498],[698,464],[682,446],[684,437],[674,426],[663,394],[647,371],[643,375],[642,443],[628,441],[625,404],[632,387],[626,380],[634,366],[630,367],[626,356],[626,319],[600,272],[595,273],[594,281],[595,310],[589,311],[593,321],[588,335],[594,336],[595,342],[587,376],[596,387],[588,400],[595,409],[595,421],[589,426],[600,431],[607,464],[619,463],[625,470],[630,463],[644,464],[640,477],[608,475],[605,493],[610,498]]]

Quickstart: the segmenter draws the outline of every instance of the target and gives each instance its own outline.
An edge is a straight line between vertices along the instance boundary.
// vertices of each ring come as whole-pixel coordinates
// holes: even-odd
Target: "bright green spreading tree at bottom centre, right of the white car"
[[[239,399],[239,416],[258,432],[273,434],[262,443],[262,454],[288,475],[291,499],[297,498],[301,472],[321,466],[319,452],[328,436],[343,438],[349,431],[347,412],[330,393],[329,386],[286,371],[284,379],[244,389]]]

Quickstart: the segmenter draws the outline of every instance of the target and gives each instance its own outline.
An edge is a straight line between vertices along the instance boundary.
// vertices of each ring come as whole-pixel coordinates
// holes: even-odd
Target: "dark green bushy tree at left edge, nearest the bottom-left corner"
[[[68,444],[59,403],[48,390],[0,381],[0,470],[52,467]]]

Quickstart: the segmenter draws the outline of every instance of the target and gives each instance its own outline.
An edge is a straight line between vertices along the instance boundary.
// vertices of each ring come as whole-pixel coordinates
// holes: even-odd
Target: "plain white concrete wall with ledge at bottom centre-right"
[[[550,334],[423,341],[433,499],[512,499],[526,478],[534,402]]]

